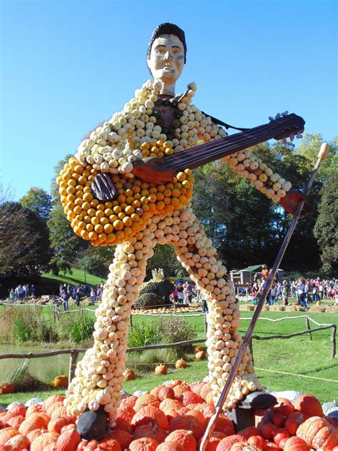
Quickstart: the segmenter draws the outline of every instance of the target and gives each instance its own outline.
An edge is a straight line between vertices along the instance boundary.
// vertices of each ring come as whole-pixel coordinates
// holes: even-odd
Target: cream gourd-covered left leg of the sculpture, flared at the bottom
[[[116,247],[102,302],[96,309],[93,348],[78,363],[66,392],[67,411],[72,415],[100,408],[113,423],[126,368],[130,309],[145,278],[147,260],[153,255],[153,236],[145,229]]]

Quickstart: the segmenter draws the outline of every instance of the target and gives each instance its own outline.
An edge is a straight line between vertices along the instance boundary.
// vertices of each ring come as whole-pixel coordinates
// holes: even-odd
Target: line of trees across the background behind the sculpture
[[[322,143],[319,133],[305,135],[296,149],[292,143],[264,143],[252,151],[293,188],[304,189]],[[282,261],[285,270],[337,275],[338,138],[330,143],[310,200],[311,216],[302,218]],[[93,247],[78,238],[63,213],[56,176],[71,155],[54,168],[51,192],[32,187],[18,202],[0,195],[0,278],[67,273],[75,265],[87,273],[106,277],[114,247]],[[272,265],[292,217],[262,195],[224,161],[194,171],[193,209],[212,238],[229,270],[247,265]],[[186,275],[170,245],[158,245],[148,269],[163,268],[167,275]]]

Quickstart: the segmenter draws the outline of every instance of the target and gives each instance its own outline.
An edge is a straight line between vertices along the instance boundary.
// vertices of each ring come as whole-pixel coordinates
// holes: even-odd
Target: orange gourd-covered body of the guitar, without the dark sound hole
[[[143,146],[145,156],[147,147]],[[160,153],[163,143],[158,141],[153,153],[154,147]],[[167,153],[170,151],[167,149]],[[83,167],[76,158],[71,158],[57,179],[61,203],[74,232],[91,240],[93,245],[121,244],[143,230],[148,218],[180,209],[193,196],[193,176],[189,169],[180,171],[173,181],[162,185],[107,173],[116,189],[115,199],[98,201],[92,190],[97,174],[93,166]]]

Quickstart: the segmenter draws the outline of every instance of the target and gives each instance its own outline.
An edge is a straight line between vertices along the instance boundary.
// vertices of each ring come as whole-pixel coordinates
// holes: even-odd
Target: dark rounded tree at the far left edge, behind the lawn
[[[20,203],[0,206],[0,274],[39,274],[51,260],[46,222]]]

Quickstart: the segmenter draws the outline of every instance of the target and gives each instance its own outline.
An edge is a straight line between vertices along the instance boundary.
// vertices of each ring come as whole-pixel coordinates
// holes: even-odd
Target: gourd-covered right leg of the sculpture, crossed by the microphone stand
[[[217,400],[242,341],[237,332],[240,310],[233,284],[225,277],[227,270],[190,206],[174,217],[174,223],[180,228],[178,240],[173,242],[178,258],[188,270],[190,278],[207,296],[208,368],[212,391]],[[247,350],[225,408],[235,407],[244,395],[260,388],[252,366],[252,356]]]

